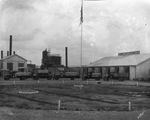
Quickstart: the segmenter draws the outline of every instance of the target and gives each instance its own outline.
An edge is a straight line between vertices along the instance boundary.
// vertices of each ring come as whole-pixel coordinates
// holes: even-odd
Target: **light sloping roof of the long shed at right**
[[[128,56],[110,56],[97,60],[88,66],[136,66],[148,59],[150,59],[150,53]]]

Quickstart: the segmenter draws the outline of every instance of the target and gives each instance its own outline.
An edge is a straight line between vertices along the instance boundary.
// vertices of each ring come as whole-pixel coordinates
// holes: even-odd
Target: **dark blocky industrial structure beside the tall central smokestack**
[[[42,67],[61,66],[61,56],[59,54],[51,54],[48,49],[42,52]]]

